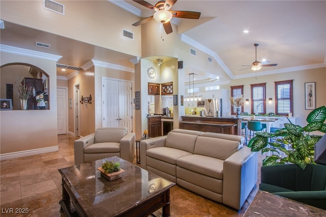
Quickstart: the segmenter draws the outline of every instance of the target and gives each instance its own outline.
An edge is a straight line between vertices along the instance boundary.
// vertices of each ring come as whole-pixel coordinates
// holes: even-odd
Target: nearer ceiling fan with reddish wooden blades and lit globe
[[[149,8],[155,13],[150,16],[146,17],[138,22],[133,23],[133,26],[139,26],[141,24],[144,24],[153,18],[157,21],[163,24],[164,30],[167,34],[170,34],[173,32],[172,25],[170,23],[170,20],[172,17],[178,17],[178,18],[186,18],[186,19],[199,19],[200,12],[194,12],[194,11],[171,11],[172,6],[177,2],[177,0],[166,0],[166,1],[158,1],[155,6],[151,5],[150,3],[143,1],[143,0],[132,0],[133,2],[136,2],[146,8]]]

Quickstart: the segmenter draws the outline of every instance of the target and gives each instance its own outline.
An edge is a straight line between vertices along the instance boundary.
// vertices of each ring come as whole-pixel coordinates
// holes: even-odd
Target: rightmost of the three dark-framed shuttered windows
[[[292,112],[292,80],[275,82],[275,110],[277,115]]]

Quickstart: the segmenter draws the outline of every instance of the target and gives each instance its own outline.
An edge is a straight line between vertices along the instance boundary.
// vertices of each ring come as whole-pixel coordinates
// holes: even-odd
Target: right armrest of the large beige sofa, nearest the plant
[[[257,182],[257,153],[247,146],[223,164],[223,203],[240,209]]]

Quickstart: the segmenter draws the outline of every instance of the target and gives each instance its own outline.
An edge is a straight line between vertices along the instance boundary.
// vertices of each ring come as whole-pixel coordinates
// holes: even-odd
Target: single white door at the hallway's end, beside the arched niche
[[[67,88],[57,88],[57,133],[67,134]]]

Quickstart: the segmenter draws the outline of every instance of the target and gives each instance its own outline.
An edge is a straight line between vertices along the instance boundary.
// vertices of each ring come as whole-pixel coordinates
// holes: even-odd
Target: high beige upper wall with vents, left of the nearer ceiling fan
[[[65,15],[43,8],[43,1],[1,1],[1,19],[111,50],[141,56],[139,17],[108,1],[56,1]],[[121,37],[125,29],[134,39]],[[84,63],[83,63],[84,64]]]

